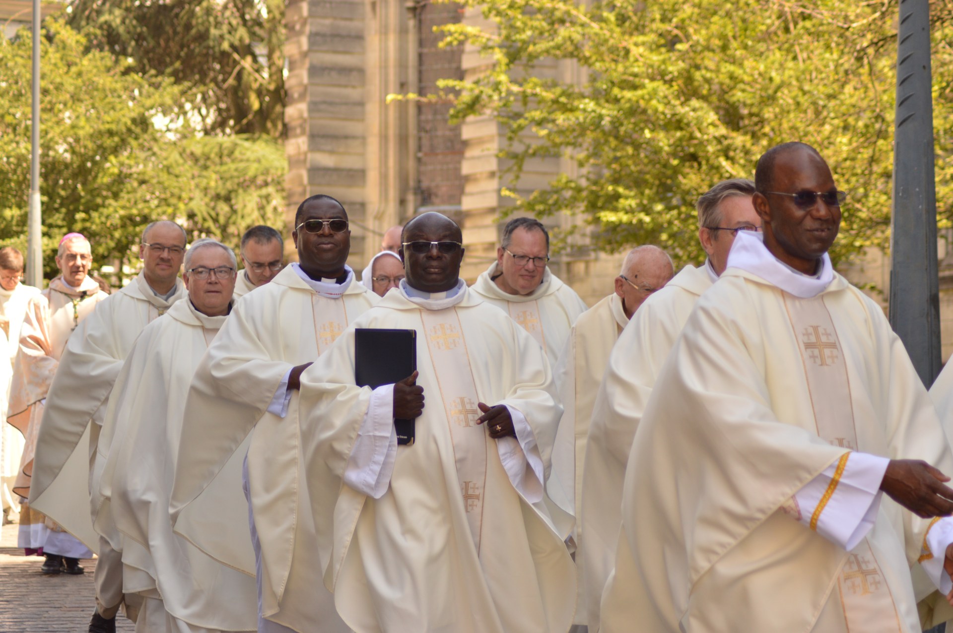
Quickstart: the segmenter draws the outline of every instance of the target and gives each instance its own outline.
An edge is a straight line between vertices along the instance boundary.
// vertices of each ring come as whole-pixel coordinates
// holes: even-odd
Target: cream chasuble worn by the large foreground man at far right
[[[793,495],[836,464],[834,494],[851,448],[953,471],[879,306],[837,274],[798,298],[729,267],[639,423],[600,630],[920,631],[910,566],[930,520],[884,501],[851,551],[813,531],[830,495],[799,523]]]

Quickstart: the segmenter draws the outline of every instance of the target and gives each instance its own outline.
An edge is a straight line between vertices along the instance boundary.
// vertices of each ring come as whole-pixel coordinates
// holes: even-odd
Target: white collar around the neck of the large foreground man
[[[834,267],[827,253],[821,257],[821,271],[817,275],[805,275],[772,255],[764,246],[764,237],[750,230],[738,231],[735,244],[728,253],[728,267],[758,275],[801,299],[816,297],[834,281]]]

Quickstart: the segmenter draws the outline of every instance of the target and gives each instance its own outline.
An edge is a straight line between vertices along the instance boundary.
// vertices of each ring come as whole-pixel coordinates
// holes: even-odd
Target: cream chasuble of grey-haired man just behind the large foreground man
[[[656,376],[679,338],[702,292],[712,286],[708,265],[686,266],[632,316],[609,355],[598,386],[582,467],[582,502],[577,508],[580,608],[598,630],[599,602],[616,565],[622,523],[622,482],[632,439]]]

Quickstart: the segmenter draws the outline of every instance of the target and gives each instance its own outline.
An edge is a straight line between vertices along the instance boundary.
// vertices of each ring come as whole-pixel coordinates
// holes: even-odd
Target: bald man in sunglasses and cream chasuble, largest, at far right
[[[600,630],[918,632],[910,567],[953,589],[953,518],[932,519],[953,454],[881,307],[831,267],[845,196],[821,156],[770,149],[755,182],[763,242],[735,238],[639,424]]]

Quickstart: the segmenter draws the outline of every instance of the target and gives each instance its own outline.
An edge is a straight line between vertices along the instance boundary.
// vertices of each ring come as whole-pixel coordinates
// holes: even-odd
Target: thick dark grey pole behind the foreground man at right
[[[941,366],[928,0],[901,0],[898,41],[890,325],[928,387]]]

